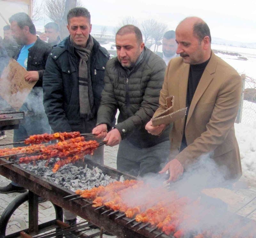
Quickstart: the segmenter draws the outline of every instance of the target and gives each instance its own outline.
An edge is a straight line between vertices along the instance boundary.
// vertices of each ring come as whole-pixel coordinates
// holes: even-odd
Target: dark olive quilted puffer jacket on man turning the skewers
[[[161,136],[153,136],[145,130],[159,105],[165,68],[164,60],[146,47],[143,59],[129,76],[117,58],[110,59],[106,66],[97,125],[106,123],[110,127],[118,108],[120,114],[116,128],[122,139],[126,138],[141,148],[168,140],[169,130]]]

